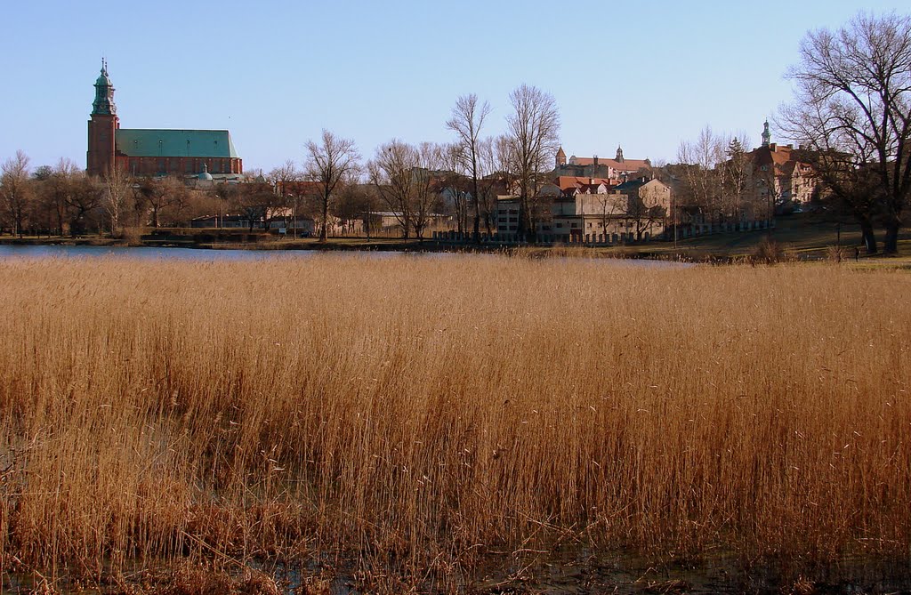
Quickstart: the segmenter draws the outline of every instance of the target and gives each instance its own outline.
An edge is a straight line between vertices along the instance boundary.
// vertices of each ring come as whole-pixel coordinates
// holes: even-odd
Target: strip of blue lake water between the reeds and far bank
[[[198,248],[152,248],[148,246],[65,246],[65,245],[0,245],[0,261],[15,258],[134,258],[144,261],[178,260],[178,261],[261,261],[269,259],[312,258],[314,254],[326,252],[315,250],[209,250]],[[333,254],[367,256],[369,258],[501,258],[493,253],[465,252],[402,252],[402,251],[333,251]],[[578,257],[559,258],[555,260],[576,261]],[[647,268],[679,268],[692,266],[686,262],[649,261],[644,259],[594,258],[618,266]]]

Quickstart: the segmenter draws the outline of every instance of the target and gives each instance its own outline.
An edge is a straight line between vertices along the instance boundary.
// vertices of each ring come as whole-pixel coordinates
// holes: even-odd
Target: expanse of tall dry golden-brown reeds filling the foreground
[[[909,296],[834,265],[0,262],[0,571],[907,561]]]

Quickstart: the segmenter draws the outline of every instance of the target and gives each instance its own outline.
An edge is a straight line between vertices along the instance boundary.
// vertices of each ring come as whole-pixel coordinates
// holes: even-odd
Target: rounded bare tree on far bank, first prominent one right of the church
[[[329,130],[322,130],[322,142],[307,141],[308,174],[320,185],[320,241],[326,241],[329,225],[329,203],[333,193],[345,181],[356,177],[360,166],[361,155],[350,138],[336,137]]]

